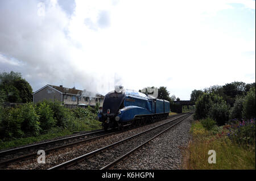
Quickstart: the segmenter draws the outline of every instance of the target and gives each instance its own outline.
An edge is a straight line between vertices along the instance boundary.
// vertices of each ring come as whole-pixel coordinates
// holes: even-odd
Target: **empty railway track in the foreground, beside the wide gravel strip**
[[[73,158],[67,162],[53,166],[53,169],[110,169],[122,159],[127,158],[134,151],[142,148],[155,137],[168,131],[181,121],[187,119],[192,113],[170,120],[167,123],[157,125],[156,127],[147,129],[146,131],[137,133],[127,137],[121,141],[114,142],[103,148],[93,150],[89,153]]]

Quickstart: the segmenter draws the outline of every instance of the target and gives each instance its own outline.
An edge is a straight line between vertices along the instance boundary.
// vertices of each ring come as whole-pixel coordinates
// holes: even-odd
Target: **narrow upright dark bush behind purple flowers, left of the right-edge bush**
[[[244,98],[242,96],[238,96],[236,101],[234,102],[234,106],[229,111],[229,119],[242,119],[242,110],[243,110],[243,102]]]

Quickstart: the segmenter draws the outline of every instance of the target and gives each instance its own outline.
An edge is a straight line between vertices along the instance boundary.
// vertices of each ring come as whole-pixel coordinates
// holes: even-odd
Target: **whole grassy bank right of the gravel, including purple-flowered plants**
[[[255,119],[207,127],[193,121],[184,169],[255,170]]]

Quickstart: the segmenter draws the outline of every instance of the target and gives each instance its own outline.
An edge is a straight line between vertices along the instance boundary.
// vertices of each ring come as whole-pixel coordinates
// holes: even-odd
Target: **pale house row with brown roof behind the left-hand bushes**
[[[102,107],[104,96],[86,90],[78,90],[75,89],[75,87],[70,89],[62,85],[46,85],[33,93],[34,103],[38,103],[44,99],[59,100],[67,107],[69,107],[69,105],[85,107],[95,106],[97,102],[100,103],[100,107]]]

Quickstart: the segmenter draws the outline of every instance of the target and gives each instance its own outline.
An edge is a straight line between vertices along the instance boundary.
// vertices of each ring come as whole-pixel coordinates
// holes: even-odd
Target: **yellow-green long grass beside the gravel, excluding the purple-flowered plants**
[[[199,121],[192,123],[188,169],[254,169],[255,143],[247,148],[232,142],[226,129],[214,127],[207,131]],[[208,163],[208,151],[216,151],[216,163]]]

